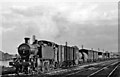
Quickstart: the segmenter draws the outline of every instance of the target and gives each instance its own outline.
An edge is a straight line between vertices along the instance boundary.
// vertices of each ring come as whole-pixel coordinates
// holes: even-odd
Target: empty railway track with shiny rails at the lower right
[[[62,77],[111,77],[119,66],[118,61],[105,62],[98,65],[84,67],[81,70],[75,70],[62,74]],[[112,76],[113,77],[113,76]]]

